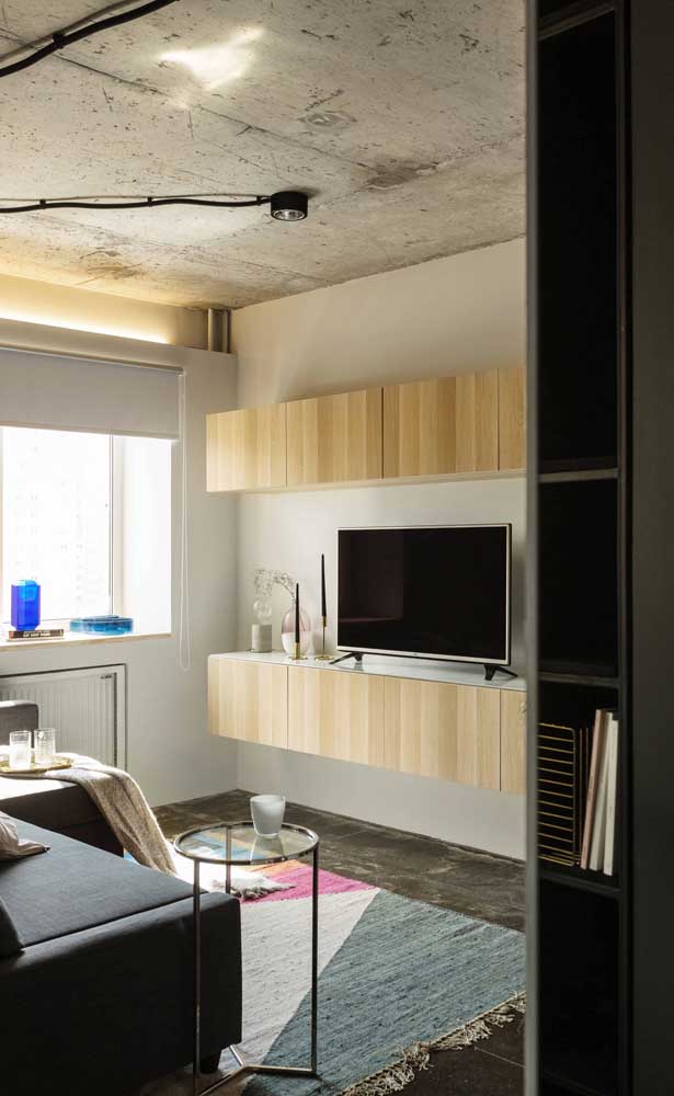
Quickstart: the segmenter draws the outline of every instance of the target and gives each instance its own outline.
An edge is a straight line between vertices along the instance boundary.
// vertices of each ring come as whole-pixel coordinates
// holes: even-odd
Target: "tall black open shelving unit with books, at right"
[[[527,1094],[630,1088],[629,118],[622,0],[529,0]],[[616,876],[538,858],[540,722],[620,721]]]

